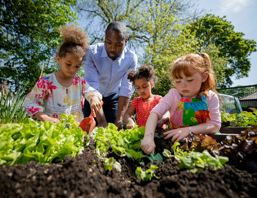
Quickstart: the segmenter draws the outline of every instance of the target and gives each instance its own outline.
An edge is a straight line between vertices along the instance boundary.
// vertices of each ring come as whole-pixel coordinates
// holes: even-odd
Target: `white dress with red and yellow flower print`
[[[57,81],[55,74],[42,76],[28,93],[24,101],[24,108],[28,115],[43,112],[43,101],[45,102],[44,113],[51,118],[59,119],[61,114],[75,115],[76,121],[81,122],[83,117],[81,97],[82,95],[90,102],[91,97],[102,95],[90,87],[86,80],[80,76],[73,76],[70,87],[63,87]]]

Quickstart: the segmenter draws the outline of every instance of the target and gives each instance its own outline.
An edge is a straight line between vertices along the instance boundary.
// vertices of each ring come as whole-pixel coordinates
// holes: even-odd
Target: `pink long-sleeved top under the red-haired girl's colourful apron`
[[[176,107],[180,101],[180,93],[176,89],[170,89],[169,92],[163,97],[162,101],[152,109],[151,113],[154,112],[159,116],[159,119],[169,111],[170,117],[176,110]],[[219,129],[221,127],[221,117],[219,111],[219,99],[216,93],[209,90],[208,96],[206,97],[207,104],[211,113],[211,120],[206,120],[206,123],[213,124]]]

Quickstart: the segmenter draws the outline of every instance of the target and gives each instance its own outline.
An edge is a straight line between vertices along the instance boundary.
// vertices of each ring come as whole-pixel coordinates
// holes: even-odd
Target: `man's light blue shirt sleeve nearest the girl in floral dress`
[[[87,83],[100,92],[99,74],[94,64],[93,53],[89,49],[83,61],[83,68],[85,73],[85,79]]]

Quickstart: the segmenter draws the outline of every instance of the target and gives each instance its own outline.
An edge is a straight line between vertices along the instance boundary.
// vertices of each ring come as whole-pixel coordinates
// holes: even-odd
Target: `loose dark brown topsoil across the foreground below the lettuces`
[[[141,182],[135,171],[139,165],[127,157],[118,157],[121,164],[103,174],[104,163],[94,154],[91,143],[83,154],[66,156],[61,163],[41,165],[0,166],[0,198],[3,197],[256,197],[257,173],[243,165],[231,162],[217,171],[205,170],[199,174],[177,168],[178,162],[163,157],[164,162],[150,162],[144,158],[143,170],[150,164],[159,167],[160,179]],[[92,165],[93,161],[96,161]]]

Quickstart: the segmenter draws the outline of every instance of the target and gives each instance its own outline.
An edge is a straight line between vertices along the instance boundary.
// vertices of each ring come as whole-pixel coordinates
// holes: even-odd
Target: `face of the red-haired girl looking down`
[[[192,76],[185,77],[184,73],[181,72],[182,79],[174,79],[178,92],[184,97],[196,97],[202,82],[205,82],[208,78],[208,72],[201,74],[196,70],[192,70],[191,74]]]

